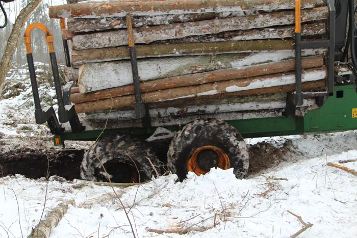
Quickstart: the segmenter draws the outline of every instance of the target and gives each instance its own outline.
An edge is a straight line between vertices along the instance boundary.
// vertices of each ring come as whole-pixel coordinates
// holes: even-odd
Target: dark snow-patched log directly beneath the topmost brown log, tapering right
[[[263,13],[258,10],[246,10],[239,12],[208,12],[196,14],[173,14],[155,16],[133,16],[133,28],[143,27],[144,25],[164,25],[178,22],[203,21],[215,18],[239,17],[243,15],[256,15]],[[112,29],[126,29],[125,17],[105,17],[105,18],[70,18],[67,21],[70,33],[80,32],[102,32]]]

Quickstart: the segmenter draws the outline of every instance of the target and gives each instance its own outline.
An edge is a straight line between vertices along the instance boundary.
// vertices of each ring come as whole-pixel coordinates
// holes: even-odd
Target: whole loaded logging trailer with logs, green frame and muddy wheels
[[[101,5],[103,4],[101,2],[93,2],[92,5],[74,3],[51,7],[49,9],[50,17],[60,18],[67,67],[71,67],[67,43],[70,40],[73,41],[72,66],[74,67],[75,64],[80,64],[79,62],[81,62],[81,60],[78,60],[78,57],[88,50],[81,48],[84,45],[84,41],[79,42],[79,39],[88,37],[93,37],[91,39],[94,39],[98,34],[112,34],[111,37],[116,37],[115,35],[118,34],[126,34],[126,39],[129,39],[129,44],[127,41],[122,44],[125,46],[120,46],[119,42],[117,45],[98,46],[93,51],[90,51],[93,54],[88,54],[82,58],[82,61],[84,61],[82,63],[87,64],[80,68],[80,73],[82,70],[82,81],[78,82],[74,80],[68,82],[63,89],[59,80],[53,37],[50,32],[42,24],[35,23],[31,24],[24,34],[35,101],[36,122],[38,124],[48,123],[50,131],[54,134],[55,145],[62,145],[66,140],[95,141],[94,145],[84,155],[81,166],[81,177],[83,179],[106,181],[107,176],[100,165],[101,163],[106,167],[112,181],[117,182],[149,180],[154,175],[153,166],[157,167],[159,173],[162,173],[164,168],[167,168],[176,173],[180,180],[185,179],[189,171],[200,175],[207,173],[213,167],[221,169],[234,168],[236,177],[243,178],[249,166],[248,151],[243,138],[317,134],[357,129],[357,93],[355,81],[357,75],[357,42],[355,41],[357,31],[355,29],[357,28],[354,27],[355,9],[353,0],[336,0],[335,2],[333,0],[327,0],[326,2],[315,0],[301,0],[301,2],[300,0],[279,1],[285,4],[285,8],[291,10],[291,12],[284,14],[293,14],[295,16],[293,19],[290,19],[291,17],[287,19],[293,21],[295,25],[295,29],[294,25],[293,29],[295,31],[292,31],[291,34],[289,33],[289,36],[278,36],[279,40],[276,40],[276,36],[270,40],[264,38],[264,40],[245,40],[241,38],[240,41],[234,41],[233,38],[228,37],[230,45],[228,48],[224,48],[226,42],[224,40],[217,40],[220,37],[220,31],[212,32],[213,30],[211,31],[211,29],[206,28],[204,30],[211,31],[211,35],[203,34],[204,36],[202,36],[201,29],[200,36],[195,38],[196,41],[190,41],[190,39],[195,37],[192,35],[185,35],[183,36],[185,37],[184,39],[172,39],[170,36],[162,38],[164,35],[162,29],[168,26],[175,27],[181,24],[180,27],[183,31],[176,31],[174,34],[176,36],[184,34],[185,29],[190,29],[190,27],[192,27],[192,31],[194,32],[203,22],[210,24],[212,22],[219,22],[217,23],[219,24],[218,27],[222,27],[224,20],[227,19],[243,21],[243,18],[239,17],[245,16],[220,18],[220,15],[217,15],[219,11],[215,7],[212,7],[219,6],[220,4],[222,8],[232,7],[228,6],[228,2],[230,1],[209,0],[205,1],[208,4],[206,6],[208,10],[205,9],[207,12],[195,15],[195,17],[211,17],[208,15],[212,13],[214,15],[212,18],[207,18],[208,20],[202,19],[202,21],[196,19],[193,23],[190,20],[187,23],[174,18],[179,23],[168,22],[167,25],[159,29],[162,34],[159,34],[158,37],[163,40],[162,44],[156,44],[155,42],[147,44],[147,42],[144,42],[136,45],[135,40],[138,39],[137,35],[140,32],[141,34],[146,34],[143,32],[151,31],[144,31],[144,28],[153,29],[152,32],[155,30],[155,27],[151,28],[146,23],[143,25],[143,28],[137,29],[137,27],[140,27],[140,20],[138,18],[145,15],[143,12],[145,11],[145,7],[148,6],[147,3],[152,4],[146,10],[147,12],[155,10],[158,12],[167,10],[168,12],[172,10],[172,3],[176,3],[173,8],[176,11],[175,13],[180,13],[180,11],[185,14],[187,12],[195,13],[195,10],[197,10],[195,8],[197,1],[195,0],[189,4],[186,4],[186,2],[183,4],[175,0],[159,2],[159,5],[156,5],[155,1],[143,1],[140,3],[129,0],[118,3],[114,1],[108,2],[110,8],[108,7],[109,5],[106,5],[107,8],[103,8],[104,5]],[[237,6],[233,6],[232,9],[239,7],[241,11],[243,11],[242,9],[246,9],[247,12],[249,9],[255,10],[255,13],[252,13],[251,16],[253,18],[258,16],[268,17],[267,14],[270,14],[269,17],[274,17],[273,14],[281,14],[282,10],[278,11],[278,8],[275,9],[277,13],[269,13],[269,11],[265,13],[264,9],[262,10],[259,7],[263,5],[270,6],[271,2],[276,1],[251,1],[252,4],[250,5],[249,1],[234,1]],[[317,2],[322,3],[321,8],[304,10],[312,6],[312,3]],[[140,5],[140,10],[136,9],[135,3]],[[279,3],[275,5],[280,6]],[[198,6],[201,5],[198,4]],[[319,6],[316,5],[315,7]],[[134,8],[135,10],[131,10]],[[71,18],[67,22],[69,27],[69,24],[72,24],[73,21],[86,21],[86,19],[81,18],[84,12],[91,11],[88,13],[89,15],[92,14],[91,17],[95,14],[99,17],[103,16],[100,14],[107,14],[108,16],[109,12],[100,12],[103,9],[109,9],[110,13],[114,14],[114,17],[126,19],[123,26],[116,28],[124,30],[117,30],[116,32],[113,29],[99,27],[99,29],[92,29],[94,32],[92,35],[86,35],[84,32],[73,34],[75,31],[72,31],[72,35],[68,36],[70,34],[66,31],[64,18]],[[303,10],[301,11],[301,9]],[[309,18],[308,11],[320,10],[326,10],[326,13],[324,13],[325,18],[307,20]],[[211,13],[209,13],[210,11]],[[167,12],[165,14],[170,14]],[[270,12],[274,12],[274,9]],[[305,15],[302,16],[301,14]],[[349,16],[349,25],[347,25],[347,16]],[[132,17],[134,17],[133,21]],[[91,22],[95,21],[92,18],[90,20]],[[115,20],[116,24],[114,25],[117,27],[122,21],[116,18]],[[110,21],[110,18],[101,18],[100,23],[104,21]],[[301,25],[301,21],[308,22],[306,25]],[[304,36],[304,34],[308,35],[304,31],[308,31],[309,23],[323,25],[323,32],[318,33],[319,39]],[[113,26],[112,23],[110,25],[111,27]],[[95,24],[88,25],[88,27],[92,26],[94,27]],[[231,26],[232,24],[230,24]],[[31,31],[34,28],[40,28],[46,34],[58,99],[59,119],[57,119],[53,107],[41,107],[31,52]],[[104,33],[95,33],[96,31],[100,31],[100,28],[106,31]],[[257,31],[249,28],[243,30],[237,29],[240,32],[235,37],[238,35],[246,37],[248,33],[253,34],[252,31]],[[276,29],[277,32],[290,31],[289,29],[280,27]],[[264,31],[266,31],[264,26],[258,29],[260,35]],[[275,30],[269,31],[275,32]],[[169,32],[169,29],[167,32]],[[346,37],[347,32],[348,37]],[[230,32],[233,35],[235,33]],[[169,33],[167,34],[169,35]],[[208,38],[211,41],[207,40]],[[283,38],[284,40],[282,40]],[[97,44],[103,43],[103,39],[100,38]],[[197,39],[199,42],[197,42]],[[108,44],[113,44],[114,41],[115,39],[112,38]],[[79,42],[78,46],[75,46],[76,42]],[[279,49],[284,49],[293,52],[293,57],[277,60],[277,63],[270,61],[258,62],[257,57],[257,62],[245,65],[246,67],[236,67],[234,69],[231,67],[229,69],[231,71],[224,71],[227,70],[225,68],[208,68],[200,72],[186,72],[183,73],[184,75],[159,75],[157,78],[150,78],[147,81],[144,81],[146,72],[140,72],[140,67],[151,67],[149,63],[153,61],[159,62],[162,56],[166,57],[163,58],[164,61],[172,60],[170,62],[173,62],[175,60],[173,57],[179,55],[184,58],[177,57],[177,59],[184,61],[185,59],[192,59],[190,58],[192,55],[199,55],[193,53],[195,50],[199,50],[205,56],[199,56],[201,58],[197,56],[194,60],[205,60],[206,58],[212,60],[212,55],[214,57],[221,57],[222,55],[220,54],[223,53],[230,53],[230,57],[236,57],[241,54],[239,47],[248,47],[245,48],[245,51],[242,50],[242,52],[249,52],[249,45],[258,44],[257,42],[259,45],[264,46],[265,44],[264,47],[266,48],[262,48],[261,50],[272,52],[270,56],[274,56],[272,55],[275,54],[274,50],[278,52]],[[277,43],[275,44],[274,42]],[[187,47],[184,47],[180,51],[179,45]],[[145,51],[145,54],[148,54],[147,56],[151,60],[145,61],[146,59],[144,59],[145,56],[143,55],[144,49],[153,51],[154,48],[156,55],[154,53],[154,55],[150,55]],[[175,52],[172,53],[173,48]],[[162,52],[162,55],[158,55],[158,51]],[[100,52],[100,54],[94,54],[94,52]],[[186,54],[185,52],[191,53]],[[313,52],[313,55],[310,55],[310,58],[304,57],[309,56],[307,52]],[[109,55],[111,58],[106,58]],[[105,63],[93,64],[95,62],[93,61],[94,57],[97,57],[96,60],[103,57],[97,62]],[[126,61],[120,61],[123,59],[126,59]],[[103,70],[104,67],[105,70],[98,73],[103,76],[99,75],[99,78],[96,78],[96,82],[104,82],[102,85],[108,86],[106,73],[112,70],[110,68],[112,66],[110,65],[115,64],[115,67],[121,67],[120,64],[124,64],[123,62],[131,66],[130,75],[132,77],[127,78],[127,75],[123,73],[124,71],[120,71],[115,77],[120,78],[124,75],[126,77],[124,80],[130,80],[131,84],[119,85],[119,81],[116,81],[116,85],[113,87],[100,88],[100,86],[96,89],[91,89],[91,87],[95,88],[94,83],[90,85],[87,82],[87,85],[85,85],[87,79],[83,74],[87,68],[91,70],[91,67],[92,69],[97,67],[95,70]],[[158,64],[161,63],[159,62]],[[279,68],[278,66],[282,69],[277,69]],[[306,81],[310,71],[314,72],[312,73],[312,77],[319,75],[316,73],[316,70],[322,72],[322,77]],[[264,73],[265,71],[268,71],[269,75],[264,77],[265,74],[268,74]],[[290,71],[290,74],[289,72],[285,73],[286,71]],[[228,75],[228,77],[228,73],[231,73],[231,76]],[[279,75],[283,76],[280,77]],[[290,81],[290,83],[277,85],[268,83],[272,77],[273,79],[275,78],[274,82],[280,82],[286,80],[286,77],[289,75],[293,76],[292,83]],[[186,81],[182,78],[186,78]],[[193,79],[197,80],[198,83],[192,83]],[[262,82],[263,80],[266,85],[260,84],[256,88],[246,88],[247,85],[251,86],[254,82]],[[154,82],[155,84],[150,82]],[[99,85],[99,83],[95,84]],[[145,84],[148,84],[152,88],[158,88],[150,91],[145,88],[148,87]],[[240,87],[242,90],[238,90]],[[79,100],[78,98],[82,99]],[[73,102],[74,104],[72,104]],[[86,115],[81,113],[86,113]],[[144,141],[145,139],[146,141]],[[150,158],[150,160],[147,160],[147,158]]]

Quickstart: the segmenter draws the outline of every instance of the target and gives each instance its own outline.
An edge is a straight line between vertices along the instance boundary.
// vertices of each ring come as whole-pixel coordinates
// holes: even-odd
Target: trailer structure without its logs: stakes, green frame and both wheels
[[[221,169],[234,168],[237,178],[246,175],[249,158],[243,138],[286,136],[298,134],[329,133],[357,129],[357,93],[356,93],[356,42],[354,30],[353,0],[327,0],[328,19],[325,20],[327,31],[321,40],[301,40],[300,1],[295,1],[295,90],[286,92],[286,105],[282,110],[257,110],[261,116],[250,117],[248,111],[217,112],[171,116],[152,123],[147,105],[142,101],[139,86],[136,45],[134,44],[131,17],[126,16],[127,32],[129,35],[129,52],[132,66],[135,104],[134,112],[139,126],[113,126],[103,128],[85,128],[71,103],[71,88],[76,82],[69,82],[61,89],[56,56],[53,47],[53,37],[41,24],[31,24],[24,34],[27,59],[31,76],[31,84],[35,101],[35,118],[38,124],[48,123],[54,134],[55,145],[62,145],[66,140],[96,141],[84,155],[81,166],[82,178],[89,180],[107,180],[101,172],[98,157],[105,163],[112,180],[141,181],[151,178],[154,171],[146,160],[163,171],[162,164],[179,176],[186,177],[188,171],[205,174],[212,167]],[[348,14],[349,13],[349,14]],[[347,27],[349,15],[349,28]],[[64,19],[60,20],[61,28],[65,28]],[[31,52],[31,31],[42,29],[46,34],[49,45],[50,61],[52,63],[56,95],[58,99],[58,118],[53,107],[42,108],[37,88],[34,63]],[[346,32],[348,38],[346,40]],[[67,67],[70,67],[69,49],[63,40]],[[348,48],[350,47],[351,62],[348,63]],[[301,52],[307,48],[325,48],[324,65],[327,68],[324,90],[303,91]],[[344,52],[342,49],[344,48]],[[341,70],[342,69],[342,70]],[[204,100],[204,99],[203,99]],[[304,101],[314,104],[307,111],[299,111]],[[224,101],[221,102],[226,103]],[[227,103],[226,103],[227,104]],[[110,117],[113,113],[114,116]],[[115,112],[108,116],[105,123],[115,122]],[[165,123],[170,121],[170,123]],[[70,129],[63,126],[69,122]],[[62,123],[62,124],[61,124]],[[105,124],[107,125],[107,124]],[[105,126],[104,123],[102,126]],[[178,131],[173,134],[172,132]],[[149,137],[150,136],[150,137]],[[147,141],[165,141],[169,143],[167,158],[162,162],[155,149]],[[163,143],[156,145],[163,146]],[[155,143],[154,143],[155,144]],[[167,148],[165,152],[167,151]],[[166,156],[164,156],[166,157]],[[165,161],[167,159],[167,161]],[[162,158],[161,158],[162,160]],[[135,164],[133,164],[133,162]],[[138,174],[140,171],[140,174]]]

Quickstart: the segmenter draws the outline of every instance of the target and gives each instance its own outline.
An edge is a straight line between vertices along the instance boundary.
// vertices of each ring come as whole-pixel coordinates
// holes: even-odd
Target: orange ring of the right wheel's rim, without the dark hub
[[[220,168],[220,169],[223,169],[223,170],[231,168],[231,163],[230,163],[230,160],[228,158],[228,155],[223,150],[221,150],[220,148],[215,147],[215,146],[206,145],[206,146],[202,146],[202,147],[197,148],[193,152],[192,156],[187,161],[187,171],[193,172],[193,173],[195,173],[197,175],[206,174],[206,173],[209,172],[209,170],[201,168],[199,166],[199,163],[198,163],[198,160],[197,160],[198,154],[200,152],[202,152],[203,150],[211,150],[211,151],[214,151],[217,154],[218,163],[217,163],[217,166],[215,166],[215,168]]]

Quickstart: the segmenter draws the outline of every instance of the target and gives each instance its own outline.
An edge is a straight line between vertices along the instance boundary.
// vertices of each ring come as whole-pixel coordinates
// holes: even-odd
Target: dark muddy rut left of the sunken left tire
[[[80,165],[85,150],[14,149],[0,153],[4,176],[22,174],[25,177],[46,177],[47,157],[49,176],[58,175],[72,180],[80,177]]]

